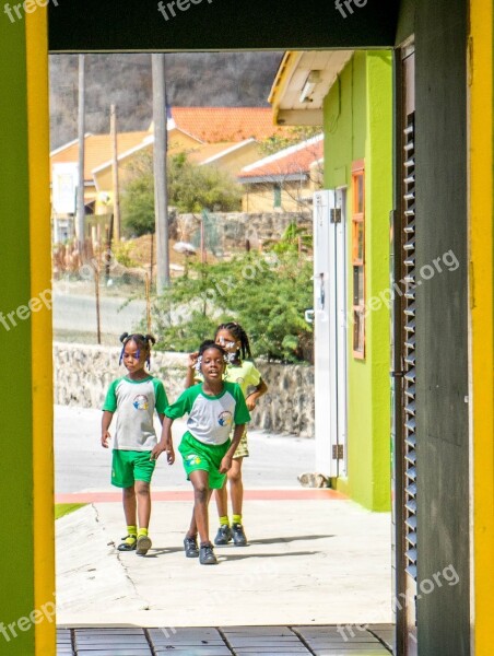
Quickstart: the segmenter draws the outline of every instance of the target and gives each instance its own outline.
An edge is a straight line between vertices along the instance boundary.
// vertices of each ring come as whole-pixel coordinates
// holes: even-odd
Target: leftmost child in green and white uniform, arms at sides
[[[122,538],[119,551],[137,550],[145,555],[151,548],[148,535],[151,516],[150,483],[156,465],[150,457],[156,445],[153,425],[154,409],[163,424],[168,399],[163,383],[144,371],[150,367],[151,335],[129,335],[120,337],[124,347],[120,364],[127,368],[127,376],[117,378],[109,386],[103,405],[102,446],[108,448],[108,432],[114,412],[117,413],[111,464],[111,484],[122,488],[124,513],[127,522],[127,537]],[[139,530],[136,522],[139,516]]]

